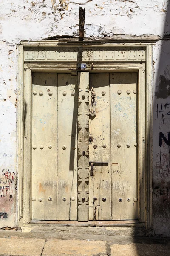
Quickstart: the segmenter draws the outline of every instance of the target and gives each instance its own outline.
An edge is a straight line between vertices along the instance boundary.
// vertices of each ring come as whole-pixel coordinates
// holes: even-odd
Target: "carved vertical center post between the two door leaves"
[[[89,73],[78,74],[78,221],[88,221],[89,202]]]

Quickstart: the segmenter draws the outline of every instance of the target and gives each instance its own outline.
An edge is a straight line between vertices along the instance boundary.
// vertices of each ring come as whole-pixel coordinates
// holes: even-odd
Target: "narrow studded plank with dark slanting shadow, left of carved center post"
[[[77,220],[77,76],[58,74],[57,220]]]

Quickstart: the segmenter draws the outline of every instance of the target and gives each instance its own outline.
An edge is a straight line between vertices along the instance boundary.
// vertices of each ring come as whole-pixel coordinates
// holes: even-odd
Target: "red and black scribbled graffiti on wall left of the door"
[[[6,199],[12,201],[14,175],[12,170],[3,169],[0,175],[0,200]]]

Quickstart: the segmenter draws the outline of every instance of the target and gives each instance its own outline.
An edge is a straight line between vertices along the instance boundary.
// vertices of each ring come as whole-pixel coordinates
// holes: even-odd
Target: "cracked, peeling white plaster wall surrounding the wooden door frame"
[[[17,43],[56,35],[78,36],[79,7],[85,7],[86,37],[115,34],[168,36],[168,3],[167,0],[0,1],[0,227],[17,225]],[[164,236],[170,236],[170,226],[167,225],[167,222],[170,223],[167,189],[170,181],[170,151],[164,140],[159,146],[159,133],[167,137],[170,131],[169,114],[166,116],[169,108],[166,104],[170,103],[169,54],[169,40],[158,41],[153,47],[153,228],[155,233]],[[162,112],[156,112],[161,110],[161,105],[167,111],[164,119]],[[3,195],[5,198],[2,198]]]

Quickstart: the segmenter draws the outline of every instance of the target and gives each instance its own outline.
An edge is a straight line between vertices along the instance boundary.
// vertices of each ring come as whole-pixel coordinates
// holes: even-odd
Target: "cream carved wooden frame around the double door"
[[[86,63],[86,68],[81,65]],[[32,41],[18,45],[18,109],[17,109],[17,173],[18,173],[18,226],[34,227],[54,225],[83,226],[77,221],[31,221],[30,204],[30,134],[28,123],[31,104],[31,73],[58,72],[137,72],[140,94],[138,195],[139,220],[119,221],[127,226],[152,227],[152,44],[114,42],[103,44],[84,42]],[[27,116],[24,108],[27,105]],[[26,117],[26,118],[25,118]],[[25,121],[25,131],[23,120]],[[73,223],[74,222],[74,223]],[[88,221],[86,225],[101,225],[101,221]],[[118,221],[102,221],[102,226],[117,226]]]

